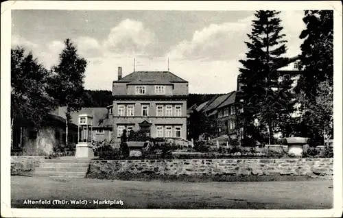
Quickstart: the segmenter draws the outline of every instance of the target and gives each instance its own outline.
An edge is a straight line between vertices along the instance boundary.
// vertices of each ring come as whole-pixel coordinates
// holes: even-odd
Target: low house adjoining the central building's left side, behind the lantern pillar
[[[66,107],[60,107],[56,115],[65,118]],[[112,140],[113,129],[113,106],[106,108],[81,108],[78,112],[71,112],[71,123],[78,125],[78,116],[80,114],[90,114],[93,116],[92,138],[94,141]]]

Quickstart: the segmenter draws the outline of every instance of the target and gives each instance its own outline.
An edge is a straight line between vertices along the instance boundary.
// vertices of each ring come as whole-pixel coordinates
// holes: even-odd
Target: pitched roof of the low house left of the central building
[[[65,119],[66,107],[58,108],[58,116]],[[108,128],[113,125],[108,119],[107,108],[82,108],[78,112],[71,112],[71,122],[78,125],[78,116],[80,114],[90,114],[93,116],[93,127],[104,127]]]

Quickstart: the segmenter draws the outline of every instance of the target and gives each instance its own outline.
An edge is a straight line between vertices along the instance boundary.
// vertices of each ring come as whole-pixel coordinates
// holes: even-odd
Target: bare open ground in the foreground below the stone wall
[[[142,182],[12,176],[12,208],[322,209],[332,180],[289,182]],[[87,205],[28,205],[24,200],[86,199]],[[94,204],[121,200],[123,205]]]

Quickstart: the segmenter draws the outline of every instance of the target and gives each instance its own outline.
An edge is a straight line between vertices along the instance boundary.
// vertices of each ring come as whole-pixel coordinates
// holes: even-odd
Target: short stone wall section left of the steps
[[[11,156],[11,175],[33,172],[44,159],[44,156]]]

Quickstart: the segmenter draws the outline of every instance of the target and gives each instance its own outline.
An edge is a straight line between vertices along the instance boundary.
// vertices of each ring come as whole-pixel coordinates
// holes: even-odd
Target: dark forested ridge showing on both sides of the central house
[[[85,90],[86,99],[83,108],[104,108],[113,104],[112,92],[110,90]],[[209,101],[219,94],[189,94],[187,108],[197,104],[198,106],[205,101]]]

